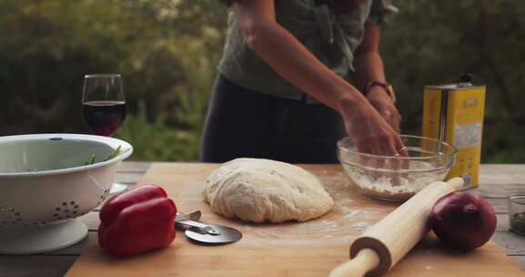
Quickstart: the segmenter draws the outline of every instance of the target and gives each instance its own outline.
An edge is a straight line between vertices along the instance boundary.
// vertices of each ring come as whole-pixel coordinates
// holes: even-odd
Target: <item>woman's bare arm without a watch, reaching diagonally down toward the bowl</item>
[[[235,15],[247,45],[292,84],[329,107],[340,102],[362,103],[365,97],[325,67],[275,19],[273,0],[241,0]]]

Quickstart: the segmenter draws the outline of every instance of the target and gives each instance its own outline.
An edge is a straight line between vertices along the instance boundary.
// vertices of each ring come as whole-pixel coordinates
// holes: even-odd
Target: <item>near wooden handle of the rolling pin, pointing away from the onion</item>
[[[365,248],[358,251],[354,259],[341,263],[328,277],[362,277],[379,266],[378,252]]]

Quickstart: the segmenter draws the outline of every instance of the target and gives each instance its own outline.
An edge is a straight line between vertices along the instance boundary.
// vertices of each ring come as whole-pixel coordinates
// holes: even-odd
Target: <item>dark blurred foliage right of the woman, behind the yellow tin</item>
[[[482,162],[525,162],[525,2],[395,1],[382,56],[403,129],[420,134],[423,86],[473,73],[487,85]]]

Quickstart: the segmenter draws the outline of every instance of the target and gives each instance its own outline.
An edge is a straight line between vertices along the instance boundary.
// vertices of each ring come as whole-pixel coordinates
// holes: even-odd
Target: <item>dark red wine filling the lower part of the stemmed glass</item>
[[[86,124],[98,136],[111,137],[126,118],[124,101],[86,101],[82,109]]]

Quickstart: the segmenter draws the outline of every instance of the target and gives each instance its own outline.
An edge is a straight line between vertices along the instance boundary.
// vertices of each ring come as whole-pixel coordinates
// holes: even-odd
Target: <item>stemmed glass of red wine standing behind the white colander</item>
[[[92,74],[84,77],[82,111],[87,126],[98,136],[111,137],[126,118],[126,97],[120,74]],[[127,189],[114,183],[110,193]]]

